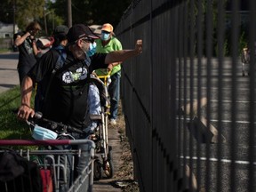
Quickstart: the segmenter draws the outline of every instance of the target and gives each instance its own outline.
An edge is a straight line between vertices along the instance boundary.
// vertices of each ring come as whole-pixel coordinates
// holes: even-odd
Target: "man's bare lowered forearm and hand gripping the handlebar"
[[[29,76],[25,76],[21,84],[21,104],[18,111],[18,117],[23,120],[28,120],[29,116],[34,116],[35,111],[30,108],[31,94],[33,91],[33,81]]]

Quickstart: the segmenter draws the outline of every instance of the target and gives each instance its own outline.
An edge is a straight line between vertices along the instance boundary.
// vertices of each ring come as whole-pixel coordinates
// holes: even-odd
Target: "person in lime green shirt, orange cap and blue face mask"
[[[116,38],[113,32],[113,26],[105,23],[101,28],[101,38],[95,42],[96,52],[108,53],[117,50],[122,50],[121,42]],[[121,62],[113,62],[108,64],[108,69],[100,68],[95,70],[97,76],[108,76],[108,71],[111,70],[111,83],[108,85],[108,93],[110,96],[110,115],[109,124],[115,125],[117,119],[118,102],[120,99],[120,78],[121,78]]]

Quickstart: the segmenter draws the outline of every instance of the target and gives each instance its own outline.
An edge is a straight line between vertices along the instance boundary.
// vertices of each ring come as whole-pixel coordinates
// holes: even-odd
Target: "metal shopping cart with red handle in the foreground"
[[[63,145],[84,145],[83,149],[85,151],[81,151],[81,149],[46,149],[46,146],[54,147]],[[95,144],[92,140],[0,140],[0,146],[2,147],[0,149],[0,164],[2,166],[0,167],[1,192],[92,191],[93,157],[95,148]],[[20,146],[23,147],[20,148]],[[44,146],[44,149],[33,149],[32,146]],[[80,158],[82,153],[87,159],[86,166],[84,167],[82,173],[79,174],[75,179],[72,178],[75,171],[75,158]],[[61,157],[63,155],[66,156],[64,160]],[[10,156],[14,157],[11,158]],[[67,172],[69,157],[72,158],[70,174]],[[19,159],[24,159],[29,164],[26,163],[27,166],[24,166],[25,161],[18,161]],[[11,163],[12,161],[14,163]],[[32,174],[30,172],[30,168],[33,166],[33,164],[36,164],[36,167],[40,172],[42,185],[38,184],[38,180],[36,180],[38,176],[37,173],[34,172]],[[20,168],[20,166],[22,167]],[[8,171],[8,167],[12,169],[12,172]],[[27,170],[28,168],[29,170]],[[23,172],[20,172],[22,170]],[[10,175],[12,176],[10,172],[14,175],[18,175],[15,175],[15,178],[11,178],[10,180]],[[27,174],[25,174],[26,172]],[[69,182],[67,179],[68,175],[71,175]],[[3,181],[4,176],[6,176],[5,181]],[[40,186],[42,186],[41,190]],[[63,188],[65,188],[65,190],[63,190]]]

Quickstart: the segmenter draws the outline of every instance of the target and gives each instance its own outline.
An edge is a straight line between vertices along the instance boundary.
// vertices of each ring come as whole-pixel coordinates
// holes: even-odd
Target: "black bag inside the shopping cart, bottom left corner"
[[[10,149],[0,152],[1,192],[41,192],[42,189],[40,169],[35,162]]]

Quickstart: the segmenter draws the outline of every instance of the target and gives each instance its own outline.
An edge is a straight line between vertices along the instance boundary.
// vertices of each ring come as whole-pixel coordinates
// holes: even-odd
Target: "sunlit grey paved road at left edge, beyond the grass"
[[[17,72],[19,52],[0,54],[0,93],[19,84]]]

